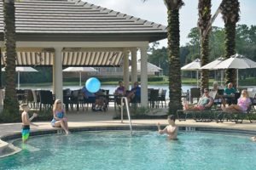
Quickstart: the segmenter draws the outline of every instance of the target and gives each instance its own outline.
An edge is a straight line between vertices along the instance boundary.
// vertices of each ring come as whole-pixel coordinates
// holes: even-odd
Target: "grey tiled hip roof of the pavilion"
[[[167,36],[166,26],[80,0],[16,1],[15,26],[17,41],[154,42]]]

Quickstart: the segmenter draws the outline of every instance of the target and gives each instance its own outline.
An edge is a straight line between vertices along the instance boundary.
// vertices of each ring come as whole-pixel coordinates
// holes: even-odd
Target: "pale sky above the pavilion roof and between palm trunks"
[[[83,0],[104,8],[113,9],[123,14],[129,14],[143,20],[167,26],[167,9],[163,0]],[[180,10],[180,45],[184,46],[189,42],[189,31],[197,26],[198,0],[183,0],[185,5]],[[212,15],[216,12],[221,0],[212,0]],[[237,24],[247,26],[256,25],[256,0],[240,0],[241,19]],[[221,14],[212,26],[224,27]],[[167,40],[160,41],[159,48],[167,46]]]

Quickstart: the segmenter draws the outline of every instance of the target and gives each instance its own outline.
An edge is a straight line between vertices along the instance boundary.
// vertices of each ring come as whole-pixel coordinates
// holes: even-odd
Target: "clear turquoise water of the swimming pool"
[[[169,141],[156,132],[81,132],[32,137],[0,169],[254,169],[256,143],[229,133],[179,132]]]

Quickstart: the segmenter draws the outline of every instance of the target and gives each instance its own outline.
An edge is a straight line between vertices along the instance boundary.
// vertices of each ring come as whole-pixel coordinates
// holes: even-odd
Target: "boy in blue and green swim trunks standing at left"
[[[30,125],[38,127],[38,125],[32,123],[32,119],[38,116],[36,113],[33,113],[33,116],[29,118],[27,111],[29,111],[29,107],[27,104],[21,104],[20,109],[23,111],[21,113],[21,120],[22,120],[22,141],[25,143],[29,137],[30,133]]]

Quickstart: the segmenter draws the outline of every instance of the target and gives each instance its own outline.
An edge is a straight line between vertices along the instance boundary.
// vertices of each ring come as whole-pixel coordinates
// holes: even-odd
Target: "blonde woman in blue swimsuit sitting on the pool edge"
[[[67,117],[61,104],[61,99],[56,99],[53,105],[53,119],[51,121],[52,127],[62,127],[65,133],[69,133],[67,126]]]

